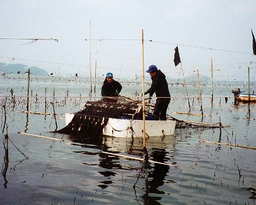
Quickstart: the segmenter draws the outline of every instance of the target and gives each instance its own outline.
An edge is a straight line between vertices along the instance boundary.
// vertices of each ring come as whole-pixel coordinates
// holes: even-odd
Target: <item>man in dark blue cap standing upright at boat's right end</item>
[[[149,97],[152,97],[154,93],[156,95],[153,112],[154,120],[159,120],[159,118],[160,120],[166,120],[166,111],[171,101],[166,76],[161,70],[158,70],[155,65],[150,65],[146,72],[150,74],[152,84],[144,94],[149,94]]]

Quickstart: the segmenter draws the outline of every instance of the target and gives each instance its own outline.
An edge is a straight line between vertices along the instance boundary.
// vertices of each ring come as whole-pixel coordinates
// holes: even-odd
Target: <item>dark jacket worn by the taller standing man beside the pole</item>
[[[171,97],[166,81],[166,76],[161,70],[158,70],[155,76],[151,77],[151,79],[151,87],[147,90],[150,96],[155,93],[156,97]]]

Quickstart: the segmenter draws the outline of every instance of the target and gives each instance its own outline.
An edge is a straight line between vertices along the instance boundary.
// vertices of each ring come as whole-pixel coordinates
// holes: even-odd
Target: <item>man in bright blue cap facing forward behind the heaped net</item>
[[[108,72],[102,86],[102,97],[117,97],[121,90],[121,84],[113,79],[113,74],[111,72]]]

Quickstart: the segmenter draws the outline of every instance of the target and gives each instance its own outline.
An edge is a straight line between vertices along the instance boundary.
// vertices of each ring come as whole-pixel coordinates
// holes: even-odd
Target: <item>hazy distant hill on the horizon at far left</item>
[[[18,73],[18,72],[20,72],[20,74],[24,74],[28,69],[30,69],[31,74],[38,74],[38,75],[48,74],[47,71],[36,66],[28,67],[27,65],[23,65],[23,64],[8,64],[6,66],[5,65],[6,63],[0,63],[0,74]]]

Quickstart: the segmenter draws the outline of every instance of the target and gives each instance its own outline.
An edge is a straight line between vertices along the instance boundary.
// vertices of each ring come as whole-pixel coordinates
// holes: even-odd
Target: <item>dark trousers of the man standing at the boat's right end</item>
[[[171,98],[157,98],[155,102],[155,108],[153,112],[154,120],[166,120],[166,111]]]

